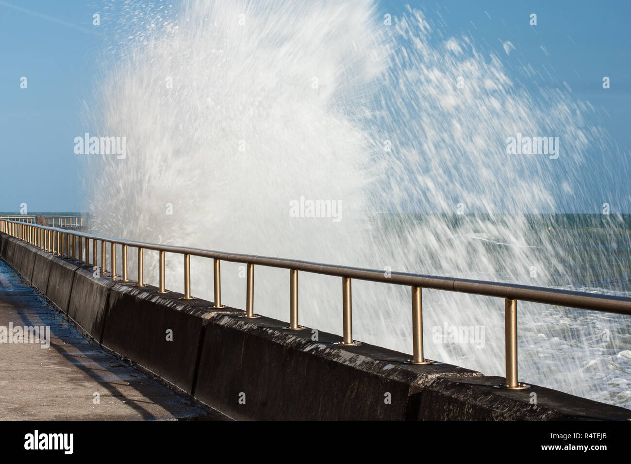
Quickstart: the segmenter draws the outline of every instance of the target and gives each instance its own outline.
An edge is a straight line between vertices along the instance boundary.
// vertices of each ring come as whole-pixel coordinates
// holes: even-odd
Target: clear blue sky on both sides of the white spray
[[[510,40],[516,51],[507,60],[509,68],[513,60],[515,66],[521,61],[551,69],[557,84],[567,82],[577,98],[603,111],[601,124],[623,153],[630,152],[631,2],[382,1],[380,9],[397,15],[407,3],[430,20],[442,18],[447,34],[470,35],[489,51],[503,53],[501,40]],[[72,141],[85,131],[81,107],[98,78],[107,28],[93,27],[92,15],[101,5],[96,0],[0,0],[0,211],[17,211],[20,203],[30,211],[82,206],[81,169]],[[531,13],[538,15],[536,27],[528,23]],[[20,88],[22,76],[28,79],[26,89]],[[610,77],[608,90],[602,88],[603,76]],[[587,184],[594,189],[606,184],[620,203],[628,197],[627,173],[618,169],[603,179],[598,172],[616,171],[622,161],[606,155],[586,167],[597,173],[586,176]]]

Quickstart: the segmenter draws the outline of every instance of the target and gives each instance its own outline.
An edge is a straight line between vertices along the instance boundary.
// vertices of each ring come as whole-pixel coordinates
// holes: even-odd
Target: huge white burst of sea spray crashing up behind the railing
[[[124,45],[103,60],[86,114],[100,135],[127,141],[125,159],[88,160],[93,232],[386,273],[575,284],[528,214],[555,211],[554,161],[507,155],[506,139],[558,136],[571,153],[566,188],[580,188],[586,147],[606,138],[587,124],[589,104],[529,93],[497,54],[469,37],[437,40],[416,10],[386,25],[369,1],[143,8],[126,3],[112,31]],[[301,198],[339,210],[301,217]],[[170,289],[182,289],[181,261],[167,258]],[[211,275],[211,261],[192,259],[194,295],[211,299]],[[225,304],[245,306],[244,275],[223,264]],[[288,319],[288,271],[257,267],[255,281],[256,312]],[[502,375],[503,307],[424,290],[426,356]],[[519,307],[521,380],[631,406],[627,323]],[[409,289],[353,281],[353,310],[355,338],[410,352]],[[300,274],[300,322],[341,332],[338,278]],[[484,336],[444,343],[458,326]]]

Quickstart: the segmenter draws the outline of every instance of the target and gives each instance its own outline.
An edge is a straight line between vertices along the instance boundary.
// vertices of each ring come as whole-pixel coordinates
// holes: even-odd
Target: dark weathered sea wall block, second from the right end
[[[275,319],[216,314],[206,325],[195,396],[235,419],[416,420],[410,401],[439,376],[481,376],[449,364],[408,366],[409,355]],[[243,400],[245,399],[245,403]],[[240,401],[241,400],[241,401]]]

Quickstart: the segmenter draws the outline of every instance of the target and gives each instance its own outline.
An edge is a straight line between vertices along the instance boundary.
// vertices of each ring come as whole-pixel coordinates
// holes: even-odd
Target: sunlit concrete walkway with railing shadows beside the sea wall
[[[48,326],[50,347],[8,343],[11,323]],[[225,417],[88,343],[0,260],[0,420],[143,419]]]

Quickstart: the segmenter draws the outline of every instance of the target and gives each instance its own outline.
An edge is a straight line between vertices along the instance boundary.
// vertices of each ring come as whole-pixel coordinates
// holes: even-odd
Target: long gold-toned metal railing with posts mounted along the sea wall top
[[[436,277],[431,275],[418,275],[403,272],[391,272],[386,276],[383,271],[363,268],[351,268],[348,266],[334,266],[309,261],[297,261],[295,259],[269,258],[266,256],[253,256],[249,254],[223,253],[190,247],[158,245],[136,241],[127,241],[104,237],[102,235],[87,234],[75,230],[45,227],[32,223],[18,222],[0,218],[0,231],[28,242],[33,246],[52,253],[56,256],[68,258],[79,264],[98,267],[98,242],[101,242],[100,270],[107,275],[106,247],[110,244],[109,277],[119,282],[131,282],[127,277],[127,249],[129,247],[138,250],[138,287],[146,287],[143,281],[144,250],[153,250],[160,253],[160,282],[157,292],[168,293],[165,289],[165,254],[175,253],[184,255],[184,295],[182,299],[194,299],[191,296],[191,256],[213,259],[213,283],[215,301],[213,308],[225,307],[221,304],[221,261],[232,263],[244,263],[247,265],[247,289],[245,314],[243,318],[258,318],[254,314],[254,266],[267,266],[273,268],[285,268],[290,271],[290,325],[287,330],[301,330],[298,325],[298,271],[315,274],[341,277],[342,279],[342,306],[343,306],[343,340],[339,345],[357,346],[360,343],[353,340],[352,306],[351,306],[351,280],[368,280],[372,282],[392,283],[405,285],[411,289],[411,316],[412,316],[412,350],[413,357],[409,364],[431,364],[433,361],[423,357],[423,306],[422,289],[447,290],[451,292],[463,292],[467,294],[485,295],[504,298],[504,324],[505,324],[505,361],[506,383],[498,385],[500,388],[521,390],[528,385],[517,381],[517,300],[551,304],[555,306],[567,306],[591,311],[613,312],[616,314],[631,315],[631,298],[615,297],[609,295],[589,294],[585,292],[572,292],[569,290],[548,289],[544,287],[531,287],[528,285],[514,285],[510,283],[486,282],[481,280],[469,280],[453,277]],[[81,242],[85,240],[85,263]],[[92,256],[90,263],[90,241],[92,242]],[[116,247],[122,247],[122,275],[116,273]]]

